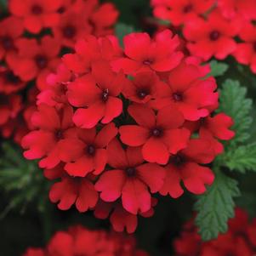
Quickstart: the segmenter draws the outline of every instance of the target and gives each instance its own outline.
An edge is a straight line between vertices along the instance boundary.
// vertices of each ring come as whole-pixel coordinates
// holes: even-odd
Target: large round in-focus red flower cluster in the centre
[[[49,192],[58,208],[93,209],[133,232],[138,214],[153,214],[152,194],[176,198],[182,184],[202,194],[213,183],[207,164],[233,137],[232,120],[213,114],[209,66],[184,57],[178,36],[132,33],[123,50],[116,37],[87,36],[62,60],[22,140],[24,156],[59,179]]]

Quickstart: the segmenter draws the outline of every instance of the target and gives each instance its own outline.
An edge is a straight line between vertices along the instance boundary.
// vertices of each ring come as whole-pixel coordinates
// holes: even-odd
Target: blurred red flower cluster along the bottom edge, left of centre
[[[45,248],[30,247],[23,256],[147,256],[139,250],[133,236],[107,233],[104,230],[88,230],[72,226],[67,231],[58,231]]]

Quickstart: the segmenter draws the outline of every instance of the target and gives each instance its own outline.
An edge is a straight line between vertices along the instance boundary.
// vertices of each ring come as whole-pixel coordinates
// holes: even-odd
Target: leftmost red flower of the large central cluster
[[[76,136],[72,114],[69,106],[56,111],[54,107],[39,105],[31,117],[32,124],[38,129],[22,139],[22,146],[26,149],[24,156],[27,159],[43,157],[40,168],[54,168],[60,162],[60,141]]]

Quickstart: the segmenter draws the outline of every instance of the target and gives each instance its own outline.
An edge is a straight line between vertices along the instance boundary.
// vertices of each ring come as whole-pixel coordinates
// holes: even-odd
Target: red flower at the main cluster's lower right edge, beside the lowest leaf
[[[200,164],[212,162],[215,153],[206,139],[191,139],[188,146],[171,156],[166,169],[166,178],[160,194],[174,198],[184,192],[182,181],[188,191],[198,195],[206,191],[205,185],[212,185],[214,174],[210,168]],[[200,164],[199,164],[200,163]]]

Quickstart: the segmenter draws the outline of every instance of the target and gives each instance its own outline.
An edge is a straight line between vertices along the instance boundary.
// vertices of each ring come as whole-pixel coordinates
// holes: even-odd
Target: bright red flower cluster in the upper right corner
[[[156,18],[183,26],[191,54],[202,60],[223,60],[231,54],[256,72],[255,1],[151,0],[151,5]]]

